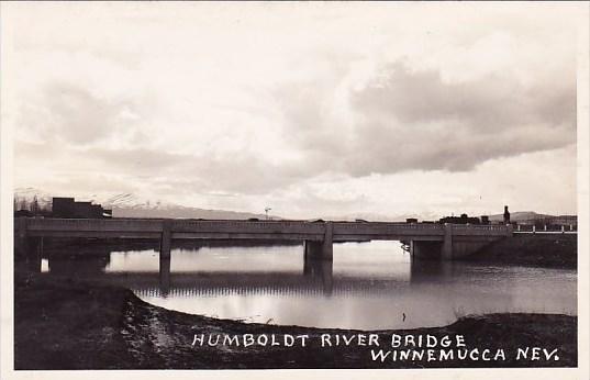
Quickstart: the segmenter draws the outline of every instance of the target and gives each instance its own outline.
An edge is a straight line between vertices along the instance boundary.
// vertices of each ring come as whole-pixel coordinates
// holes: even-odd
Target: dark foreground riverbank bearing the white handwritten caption
[[[467,368],[467,367],[575,367],[577,365],[577,320],[549,314],[489,314],[466,316],[444,327],[405,331],[344,331],[245,324],[168,311],[136,298],[130,290],[70,279],[18,276],[15,280],[16,369],[254,369],[254,368]],[[219,335],[242,339],[242,345],[200,345],[199,339]],[[244,347],[243,339],[256,344]],[[322,347],[326,334],[332,347]],[[336,335],[365,336],[352,345],[336,346]],[[379,346],[369,346],[370,335]],[[280,344],[260,345],[266,335]],[[307,335],[303,347],[297,340],[285,345],[286,336]],[[392,348],[392,335],[412,335],[416,342],[427,335],[464,336],[465,347],[450,345],[452,358],[428,360],[426,347]],[[246,336],[246,338],[244,338]],[[325,336],[324,336],[325,337]],[[196,342],[196,345],[192,344]],[[264,339],[261,340],[264,343]],[[282,343],[281,343],[282,342]],[[325,343],[325,342],[324,342]],[[411,345],[410,345],[411,346]],[[538,347],[539,350],[534,350]],[[456,349],[455,349],[456,348]],[[517,359],[519,348],[526,359]],[[547,359],[545,351],[550,354]],[[372,360],[380,349],[387,358]],[[477,351],[476,351],[477,349]],[[496,360],[486,360],[493,357]],[[372,354],[371,354],[372,350]],[[410,358],[393,360],[393,351],[409,351]],[[468,353],[461,359],[458,351]],[[502,350],[504,358],[498,356]],[[387,354],[391,351],[391,354]],[[538,359],[533,359],[533,353]],[[553,354],[552,354],[553,353]],[[535,354],[535,355],[536,355]],[[413,360],[412,360],[413,358]],[[535,356],[536,358],[536,356]],[[558,358],[558,360],[556,360]]]

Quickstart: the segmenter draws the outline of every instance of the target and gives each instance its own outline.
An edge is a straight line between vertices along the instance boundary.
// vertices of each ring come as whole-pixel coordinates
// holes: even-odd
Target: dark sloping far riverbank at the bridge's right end
[[[576,269],[578,236],[576,234],[522,234],[494,242],[465,261]]]

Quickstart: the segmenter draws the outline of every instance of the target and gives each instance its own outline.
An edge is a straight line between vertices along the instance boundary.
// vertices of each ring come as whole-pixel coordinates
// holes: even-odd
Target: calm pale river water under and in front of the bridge
[[[576,271],[465,262],[412,262],[399,242],[334,245],[333,267],[305,266],[303,247],[174,249],[44,259],[42,270],[131,288],[193,314],[285,325],[410,328],[474,313],[577,314]]]

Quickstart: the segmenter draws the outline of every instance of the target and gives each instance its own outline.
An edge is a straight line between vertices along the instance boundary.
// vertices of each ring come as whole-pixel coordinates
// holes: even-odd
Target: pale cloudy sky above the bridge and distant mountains
[[[14,187],[576,213],[576,4],[3,3]]]

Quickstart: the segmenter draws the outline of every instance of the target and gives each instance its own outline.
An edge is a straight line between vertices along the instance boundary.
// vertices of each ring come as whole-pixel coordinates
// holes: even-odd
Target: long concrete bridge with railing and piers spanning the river
[[[170,256],[172,239],[276,239],[305,242],[305,258],[332,260],[332,244],[350,241],[402,241],[418,257],[454,259],[511,236],[511,225],[394,222],[225,221],[171,219],[14,220],[15,249],[31,238],[151,238],[160,241],[160,257]]]

